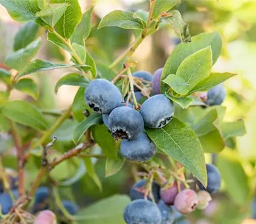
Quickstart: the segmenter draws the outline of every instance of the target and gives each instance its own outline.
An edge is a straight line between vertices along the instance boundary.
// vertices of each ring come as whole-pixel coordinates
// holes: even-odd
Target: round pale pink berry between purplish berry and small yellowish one
[[[176,196],[174,205],[177,210],[183,214],[195,211],[198,205],[196,192],[191,189],[184,189]]]

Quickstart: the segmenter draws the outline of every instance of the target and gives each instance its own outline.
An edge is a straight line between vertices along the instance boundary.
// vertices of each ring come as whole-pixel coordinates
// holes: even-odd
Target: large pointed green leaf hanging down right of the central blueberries
[[[161,129],[146,129],[146,132],[157,148],[183,164],[202,184],[207,185],[204,151],[192,129],[173,118]]]

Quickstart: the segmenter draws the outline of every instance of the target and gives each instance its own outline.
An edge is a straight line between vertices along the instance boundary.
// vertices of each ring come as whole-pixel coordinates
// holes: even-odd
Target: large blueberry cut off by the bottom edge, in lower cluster
[[[138,199],[125,207],[124,220],[128,224],[161,224],[161,212],[153,202]]]

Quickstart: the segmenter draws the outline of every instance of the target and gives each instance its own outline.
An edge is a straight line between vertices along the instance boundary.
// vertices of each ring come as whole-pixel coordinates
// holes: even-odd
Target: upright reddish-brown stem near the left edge
[[[19,180],[19,195],[25,194],[25,182],[24,182],[24,169],[23,169],[23,152],[20,136],[18,134],[17,125],[15,122],[10,120],[11,132],[17,152],[17,161],[18,161],[18,180]]]

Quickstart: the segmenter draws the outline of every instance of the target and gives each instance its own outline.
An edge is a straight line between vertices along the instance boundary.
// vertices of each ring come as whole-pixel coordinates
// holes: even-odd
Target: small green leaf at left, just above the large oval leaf
[[[38,99],[39,88],[33,79],[20,79],[13,85],[13,88],[30,95],[34,99]]]

